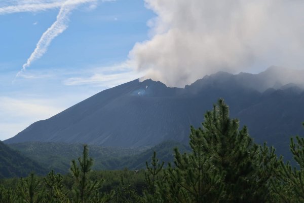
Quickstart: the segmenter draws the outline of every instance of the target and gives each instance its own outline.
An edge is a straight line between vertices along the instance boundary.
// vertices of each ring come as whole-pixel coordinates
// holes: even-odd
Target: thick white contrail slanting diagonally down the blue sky
[[[22,69],[17,73],[16,78],[20,76],[20,74],[26,70],[26,67],[28,67],[34,60],[41,58],[47,52],[52,40],[68,27],[70,12],[78,5],[90,2],[96,2],[96,0],[68,0],[62,4],[56,21],[43,33],[35,50],[27,59],[26,63],[23,64]]]

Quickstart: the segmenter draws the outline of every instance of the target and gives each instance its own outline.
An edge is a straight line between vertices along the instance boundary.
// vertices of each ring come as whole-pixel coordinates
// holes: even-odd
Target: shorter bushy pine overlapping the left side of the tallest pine
[[[223,174],[211,162],[206,151],[203,129],[191,128],[191,154],[175,152],[175,167],[169,164],[165,180],[159,181],[163,202],[219,202],[223,197]]]

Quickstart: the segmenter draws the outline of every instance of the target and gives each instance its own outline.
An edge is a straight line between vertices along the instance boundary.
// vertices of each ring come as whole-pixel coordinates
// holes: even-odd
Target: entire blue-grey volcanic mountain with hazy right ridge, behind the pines
[[[218,98],[231,117],[246,124],[258,143],[288,156],[290,136],[304,134],[303,71],[271,67],[259,74],[218,72],[185,88],[134,80],[104,90],[43,121],[5,143],[87,143],[109,147],[152,147],[167,140],[188,142]],[[292,80],[294,79],[294,80]],[[292,82],[292,83],[291,83]]]

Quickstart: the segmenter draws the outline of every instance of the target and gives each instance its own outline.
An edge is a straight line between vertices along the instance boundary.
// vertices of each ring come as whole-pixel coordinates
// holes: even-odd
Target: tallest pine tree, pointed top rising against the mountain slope
[[[270,195],[270,180],[277,157],[273,148],[258,147],[247,127],[239,130],[239,121],[230,119],[223,99],[207,112],[203,129],[205,151],[212,164],[224,174],[225,202],[264,202]],[[263,166],[263,167],[261,167]]]

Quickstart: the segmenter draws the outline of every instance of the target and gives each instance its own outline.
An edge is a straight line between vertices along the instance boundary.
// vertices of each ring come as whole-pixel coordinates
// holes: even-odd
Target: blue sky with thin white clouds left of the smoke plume
[[[32,1],[41,5],[54,2]],[[3,10],[20,5],[23,1],[0,2]],[[15,13],[3,10],[0,140],[103,89],[141,76],[125,61],[136,42],[148,39],[147,21],[155,16],[142,0],[91,1],[73,8],[68,27],[18,77],[43,33],[56,21],[60,7]]]

